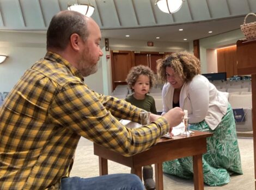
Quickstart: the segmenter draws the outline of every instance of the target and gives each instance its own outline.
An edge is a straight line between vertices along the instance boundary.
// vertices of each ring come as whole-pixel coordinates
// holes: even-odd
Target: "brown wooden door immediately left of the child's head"
[[[130,51],[111,50],[112,86],[126,84],[126,77],[131,67],[133,67],[134,54]]]

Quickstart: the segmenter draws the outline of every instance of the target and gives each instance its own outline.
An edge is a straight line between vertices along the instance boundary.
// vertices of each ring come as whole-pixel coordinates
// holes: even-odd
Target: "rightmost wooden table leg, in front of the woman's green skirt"
[[[193,156],[194,189],[204,189],[202,154]]]

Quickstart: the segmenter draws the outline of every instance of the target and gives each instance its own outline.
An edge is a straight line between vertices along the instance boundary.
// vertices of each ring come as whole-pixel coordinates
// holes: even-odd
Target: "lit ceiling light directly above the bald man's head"
[[[74,10],[90,17],[93,15],[94,7],[92,4],[90,4],[90,1],[88,1],[88,4],[81,4],[77,3],[77,0],[75,0],[74,4],[68,4],[68,10]]]

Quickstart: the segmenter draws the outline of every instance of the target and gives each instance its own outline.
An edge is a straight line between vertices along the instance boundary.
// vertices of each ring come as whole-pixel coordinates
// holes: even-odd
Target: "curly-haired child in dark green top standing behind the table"
[[[133,94],[125,100],[145,111],[157,114],[155,100],[148,95],[148,92],[155,84],[155,81],[154,73],[149,67],[143,65],[132,67],[127,75],[126,82]],[[147,190],[155,189],[153,167],[144,166],[142,174],[145,188]]]

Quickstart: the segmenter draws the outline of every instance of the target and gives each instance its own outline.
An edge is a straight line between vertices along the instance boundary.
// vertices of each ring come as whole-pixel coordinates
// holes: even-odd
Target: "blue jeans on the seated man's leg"
[[[94,178],[63,178],[60,190],[143,190],[141,179],[134,174],[111,174]]]

